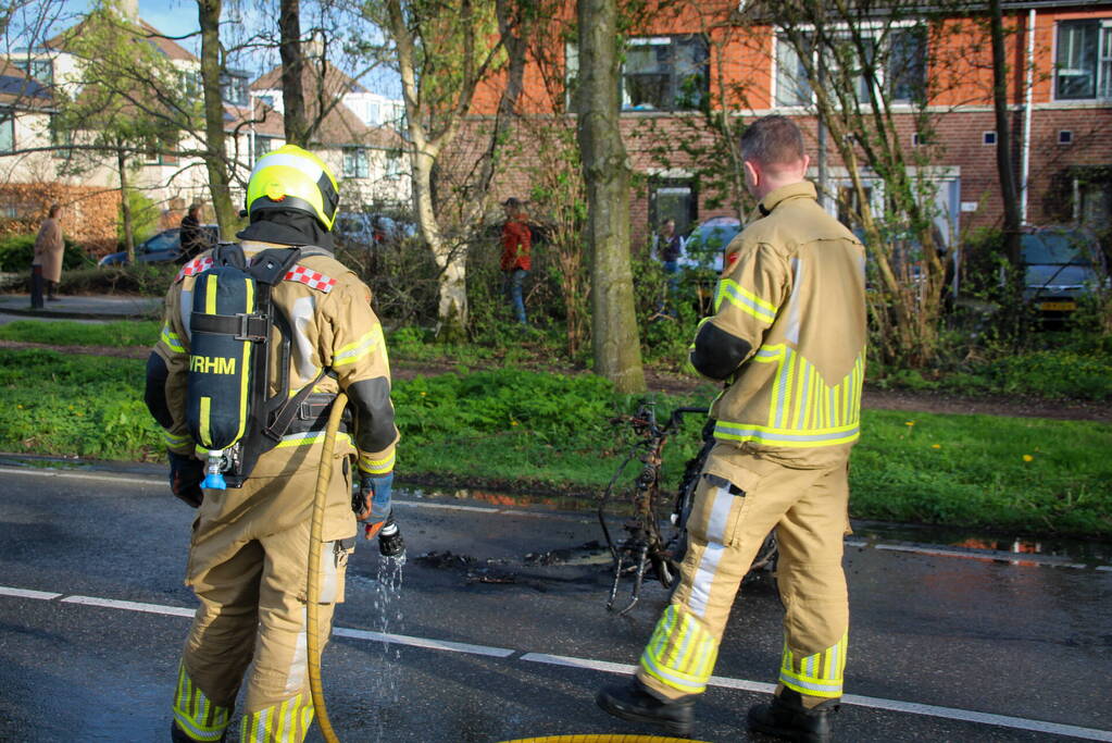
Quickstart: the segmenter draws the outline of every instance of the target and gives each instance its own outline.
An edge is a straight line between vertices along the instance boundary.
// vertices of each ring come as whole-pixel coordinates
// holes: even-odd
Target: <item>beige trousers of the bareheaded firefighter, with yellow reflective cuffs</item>
[[[847,505],[845,460],[800,469],[744,446],[715,446],[687,522],[679,584],[641,656],[641,682],[665,700],[705,691],[742,578],[775,527],[785,611],[780,683],[805,700],[840,697],[850,623]]]

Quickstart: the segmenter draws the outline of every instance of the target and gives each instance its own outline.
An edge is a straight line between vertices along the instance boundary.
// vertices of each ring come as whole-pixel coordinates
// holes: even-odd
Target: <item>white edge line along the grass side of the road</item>
[[[165,481],[160,477],[143,477],[143,476],[128,476],[128,477],[117,477],[108,475],[87,475],[85,473],[73,473],[67,472],[64,469],[24,469],[21,467],[0,467],[0,475],[32,475],[39,477],[71,477],[73,479],[91,479],[107,483],[120,484],[130,483],[133,485],[142,485],[148,483],[162,484]],[[107,493],[106,493],[107,494]],[[556,514],[548,512],[534,512],[534,511],[518,511],[516,508],[498,508],[498,507],[487,507],[487,506],[465,506],[457,505],[454,503],[429,503],[427,501],[406,501],[401,498],[395,498],[395,505],[407,506],[410,508],[433,508],[439,511],[466,511],[473,513],[487,513],[487,514],[499,514],[499,515],[512,515],[512,516],[535,516],[543,517],[547,516],[550,518],[562,518],[562,519],[574,519],[584,521],[582,516],[570,516],[567,514]],[[589,519],[587,519],[589,521]],[[846,539],[846,547],[868,547],[870,542],[863,539]],[[1085,569],[1089,565],[1083,563],[1069,563],[1060,562],[1062,558],[1055,557],[1053,555],[1037,555],[1029,553],[1002,553],[1002,552],[986,552],[985,554],[980,554],[976,552],[969,552],[964,549],[950,549],[946,547],[921,547],[916,545],[904,545],[904,544],[873,544],[874,549],[882,549],[886,552],[906,552],[919,555],[935,555],[939,557],[960,557],[964,559],[990,559],[999,563],[1035,563],[1039,566],[1045,567],[1071,567],[1075,569]],[[1014,557],[1012,555],[1015,555]],[[1098,565],[1095,569],[1102,572],[1112,572],[1112,565]]]

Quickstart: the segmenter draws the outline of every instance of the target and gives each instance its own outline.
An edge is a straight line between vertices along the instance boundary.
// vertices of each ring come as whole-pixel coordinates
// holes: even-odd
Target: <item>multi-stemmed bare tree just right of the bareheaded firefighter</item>
[[[943,19],[953,11],[944,4],[924,11],[915,0],[897,0],[878,12],[850,0],[794,0],[776,10],[777,48],[791,52],[777,66],[783,75],[796,63],[800,72],[782,85],[828,129],[844,169],[846,185],[832,196],[868,250],[882,354],[912,366],[936,353],[956,249],[937,224],[943,215],[931,165],[943,145],[935,136],[939,113],[927,106],[941,86],[953,83],[947,68],[960,62],[953,44],[943,43]]]

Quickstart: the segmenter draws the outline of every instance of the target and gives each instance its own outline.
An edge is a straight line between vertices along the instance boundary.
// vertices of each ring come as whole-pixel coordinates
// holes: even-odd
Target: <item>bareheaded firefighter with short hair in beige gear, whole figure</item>
[[[804,180],[808,159],[795,123],[755,121],[742,151],[762,218],[728,246],[715,314],[699,325],[691,356],[703,375],[726,382],[711,409],[717,443],[687,522],[679,583],[636,677],[596,701],[686,734],[742,577],[775,528],[785,610],[780,683],[748,724],[825,741],[846,660],[842,545],[865,370],[865,256]]]

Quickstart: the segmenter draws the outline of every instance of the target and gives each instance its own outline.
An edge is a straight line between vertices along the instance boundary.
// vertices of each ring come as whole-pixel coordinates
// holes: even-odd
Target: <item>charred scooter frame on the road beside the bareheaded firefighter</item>
[[[645,574],[649,568],[665,588],[672,590],[679,582],[679,564],[687,552],[687,517],[691,515],[703,465],[706,464],[706,457],[715,445],[714,422],[708,419],[703,427],[703,445],[698,454],[688,459],[684,466],[684,474],[674,497],[664,492],[661,483],[663,452],[668,438],[678,433],[684,416],[705,416],[707,412],[705,407],[679,407],[672,412],[667,423],[661,425],[656,419],[655,406],[647,403],[642,405],[636,414],[624,418],[632,424],[638,438],[606,486],[597,512],[598,524],[606,537],[606,546],[614,557],[614,582],[610,585],[606,608],[616,612],[618,616],[627,614],[637,604]],[[618,479],[634,459],[641,462],[642,469],[634,483],[633,514],[623,525],[627,536],[617,544],[606,525],[606,507],[614,501],[614,488]],[[672,501],[672,511],[668,514],[667,525],[662,531],[661,523],[664,521],[662,512],[668,499]],[[749,574],[757,569],[771,569],[775,558],[776,533],[773,532],[761,546],[749,567]],[[629,602],[622,608],[615,608],[622,578],[631,574],[634,583],[629,592]]]

